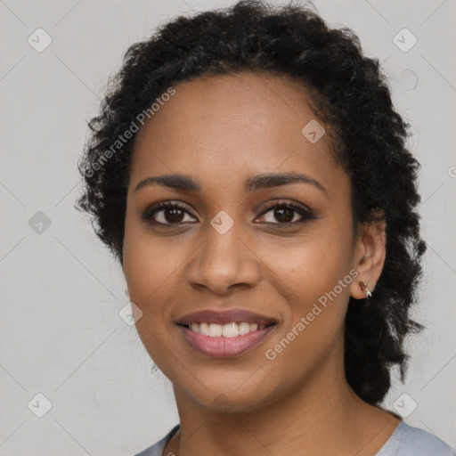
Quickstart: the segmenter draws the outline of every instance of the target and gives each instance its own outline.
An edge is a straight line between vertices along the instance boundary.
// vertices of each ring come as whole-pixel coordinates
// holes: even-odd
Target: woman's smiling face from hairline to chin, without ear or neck
[[[329,134],[301,132],[314,119],[303,85],[243,73],[176,85],[136,138],[123,252],[136,327],[201,407],[223,394],[252,411],[343,369],[359,252]]]

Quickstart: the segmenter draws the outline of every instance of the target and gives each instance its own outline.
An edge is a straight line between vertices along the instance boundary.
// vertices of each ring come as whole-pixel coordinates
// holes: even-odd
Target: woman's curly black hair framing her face
[[[251,71],[300,81],[315,114],[330,127],[334,156],[350,177],[354,232],[379,214],[387,224],[387,255],[375,292],[368,305],[350,297],[344,336],[347,382],[364,402],[377,405],[391,386],[393,365],[404,379],[410,358],[405,337],[424,329],[409,316],[427,248],[414,210],[419,162],[406,148],[410,125],[393,107],[379,60],[363,55],[350,28],[330,28],[315,10],[312,3],[279,7],[244,0],[179,16],[132,45],[110,78],[100,114],[88,124],[91,134],[78,163],[84,192],[75,207],[91,215],[96,235],[123,265],[136,137],[125,141],[123,135],[134,131],[138,114],[150,112],[151,102],[172,85],[194,77]]]

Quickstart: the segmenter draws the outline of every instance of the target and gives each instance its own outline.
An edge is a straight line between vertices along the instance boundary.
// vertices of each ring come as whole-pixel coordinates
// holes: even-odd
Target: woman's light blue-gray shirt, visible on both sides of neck
[[[172,428],[157,444],[134,456],[167,456],[163,450],[180,425]],[[413,428],[401,421],[375,456],[455,456],[456,452],[428,431]]]

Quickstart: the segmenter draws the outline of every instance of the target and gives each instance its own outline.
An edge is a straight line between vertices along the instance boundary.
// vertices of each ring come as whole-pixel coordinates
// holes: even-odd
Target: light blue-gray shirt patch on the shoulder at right
[[[376,456],[454,456],[450,445],[428,431],[413,428],[404,421]]]

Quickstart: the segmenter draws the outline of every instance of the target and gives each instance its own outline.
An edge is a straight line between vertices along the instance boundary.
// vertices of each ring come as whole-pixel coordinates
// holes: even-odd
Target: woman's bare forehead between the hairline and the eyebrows
[[[175,85],[142,126],[131,177],[172,171],[228,181],[259,172],[338,173],[329,134],[310,142],[302,132],[315,121],[305,85],[289,77],[197,77]]]

